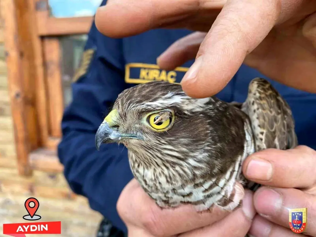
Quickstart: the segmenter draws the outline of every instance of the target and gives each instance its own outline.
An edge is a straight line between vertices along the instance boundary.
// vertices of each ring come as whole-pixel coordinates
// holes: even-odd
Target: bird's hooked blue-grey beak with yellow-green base
[[[142,139],[133,134],[122,134],[119,132],[117,128],[114,128],[117,116],[117,110],[112,110],[104,119],[98,131],[95,134],[95,146],[97,150],[100,150],[100,146],[102,143],[115,143],[119,142],[123,138],[136,138]]]

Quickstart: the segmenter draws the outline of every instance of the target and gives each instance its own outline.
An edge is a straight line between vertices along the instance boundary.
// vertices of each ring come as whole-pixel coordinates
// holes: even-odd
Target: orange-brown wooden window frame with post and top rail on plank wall
[[[64,111],[58,37],[87,34],[93,17],[51,17],[48,0],[1,0],[1,9],[19,174],[62,171],[57,157]]]

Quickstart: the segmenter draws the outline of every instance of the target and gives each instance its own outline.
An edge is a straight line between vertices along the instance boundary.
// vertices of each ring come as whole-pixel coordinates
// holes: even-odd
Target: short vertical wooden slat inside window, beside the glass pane
[[[61,137],[64,112],[62,88],[62,56],[58,38],[43,39],[45,79],[47,84],[50,136]]]

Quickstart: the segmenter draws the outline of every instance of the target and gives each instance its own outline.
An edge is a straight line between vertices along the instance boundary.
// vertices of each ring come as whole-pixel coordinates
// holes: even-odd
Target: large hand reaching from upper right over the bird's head
[[[309,0],[108,0],[95,23],[115,38],[161,27],[208,32],[180,39],[157,60],[172,70],[196,58],[181,85],[189,96],[203,98],[222,90],[243,62],[316,92],[315,12],[316,1]]]

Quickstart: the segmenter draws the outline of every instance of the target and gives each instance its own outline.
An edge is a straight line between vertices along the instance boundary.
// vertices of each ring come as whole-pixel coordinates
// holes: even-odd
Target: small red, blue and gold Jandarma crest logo
[[[294,233],[302,233],[306,228],[307,208],[289,210],[289,226]]]

